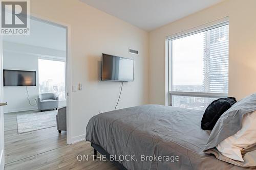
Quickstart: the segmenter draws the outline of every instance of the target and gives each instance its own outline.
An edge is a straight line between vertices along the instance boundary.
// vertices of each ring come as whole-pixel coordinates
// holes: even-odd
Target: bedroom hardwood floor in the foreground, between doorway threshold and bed
[[[89,155],[88,161],[78,161],[77,155]],[[5,170],[11,169],[97,169],[117,170],[109,161],[96,161],[90,156],[93,148],[89,142],[81,141],[71,145],[41,153],[26,159],[22,159],[5,165]]]

